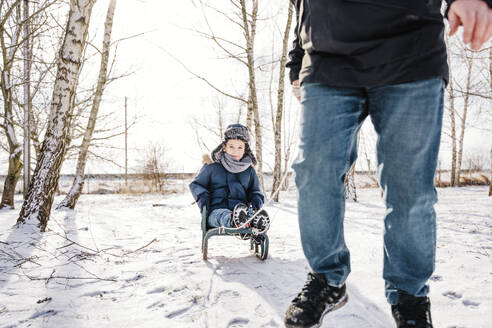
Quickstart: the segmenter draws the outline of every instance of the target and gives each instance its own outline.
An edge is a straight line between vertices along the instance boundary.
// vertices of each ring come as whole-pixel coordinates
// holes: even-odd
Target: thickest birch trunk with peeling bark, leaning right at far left
[[[73,109],[71,101],[79,77],[82,52],[94,3],[95,0],[70,1],[67,27],[57,63],[48,127],[27,198],[17,220],[18,226],[26,221],[38,220],[40,230],[42,232],[46,230],[69,137]]]

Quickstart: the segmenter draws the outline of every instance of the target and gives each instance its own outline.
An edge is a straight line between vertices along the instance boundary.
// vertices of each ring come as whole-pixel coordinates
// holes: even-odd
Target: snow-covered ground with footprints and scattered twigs
[[[384,206],[376,189],[359,197],[346,212],[349,302],[323,327],[392,328],[381,278]],[[492,198],[485,187],[440,189],[439,198],[435,327],[492,327]],[[53,211],[44,234],[11,228],[20,206],[0,211],[2,328],[282,327],[309,270],[294,192],[268,207],[264,262],[234,237],[210,239],[203,261],[188,194],[83,195],[75,211]]]

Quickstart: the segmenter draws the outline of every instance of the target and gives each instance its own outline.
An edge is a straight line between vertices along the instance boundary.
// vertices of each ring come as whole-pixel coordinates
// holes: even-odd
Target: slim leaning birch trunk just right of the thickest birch
[[[97,87],[94,95],[94,100],[92,102],[91,113],[89,115],[89,121],[87,122],[87,127],[85,129],[84,138],[82,140],[82,145],[80,146],[79,157],[77,159],[77,168],[75,171],[75,178],[72,182],[72,187],[66,195],[65,199],[61,201],[57,208],[68,207],[75,208],[77,200],[82,193],[85,181],[85,166],[87,162],[87,154],[89,152],[89,146],[92,140],[92,135],[94,133],[94,127],[96,126],[97,113],[99,111],[99,106],[101,104],[101,98],[104,93],[104,87],[107,82],[107,72],[108,72],[108,60],[109,60],[109,50],[111,45],[111,32],[113,29],[113,16],[116,6],[116,0],[111,0],[108,6],[108,11],[106,15],[106,21],[104,23],[104,40],[103,40],[103,50],[101,56],[101,65],[99,67],[99,76],[97,79]]]

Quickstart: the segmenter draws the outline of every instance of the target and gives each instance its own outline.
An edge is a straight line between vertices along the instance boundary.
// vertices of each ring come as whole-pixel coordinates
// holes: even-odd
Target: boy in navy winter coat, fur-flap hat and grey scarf
[[[256,164],[249,147],[248,129],[231,124],[224,133],[224,141],[212,151],[212,163],[205,164],[190,184],[190,190],[200,210],[206,207],[211,227],[240,227],[250,218],[248,205],[256,212],[264,202]],[[248,205],[246,205],[248,204]],[[260,231],[266,230],[270,219],[261,210],[250,222]],[[247,224],[249,226],[249,224]],[[261,242],[260,236],[254,236]]]

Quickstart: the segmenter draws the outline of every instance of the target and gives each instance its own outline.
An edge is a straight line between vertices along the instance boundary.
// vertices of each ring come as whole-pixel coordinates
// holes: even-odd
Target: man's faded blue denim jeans
[[[399,291],[425,296],[434,271],[439,151],[444,81],[347,89],[302,85],[299,155],[293,168],[299,191],[304,254],[330,285],[350,273],[345,245],[345,174],[357,158],[357,132],[369,115],[378,135],[379,183],[384,192],[386,297]]]

